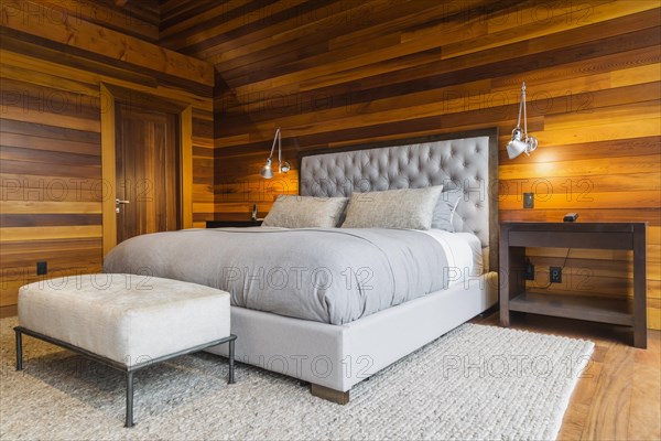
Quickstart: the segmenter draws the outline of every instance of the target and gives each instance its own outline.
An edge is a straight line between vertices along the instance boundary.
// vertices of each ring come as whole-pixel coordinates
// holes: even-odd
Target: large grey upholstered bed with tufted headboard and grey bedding
[[[496,303],[497,150],[497,130],[489,129],[307,153],[299,193],[324,206],[347,198],[336,211],[346,217],[342,227],[138,236],[116,247],[104,269],[230,292],[237,361],[307,381],[314,395],[346,404],[354,385]],[[358,207],[394,189],[416,189],[393,214],[404,224],[418,215],[407,203],[420,191],[437,190],[438,206],[457,193],[449,225],[383,228],[379,209],[359,213],[362,224],[351,225]],[[294,214],[285,224],[296,223]],[[380,227],[365,224],[370,215]]]

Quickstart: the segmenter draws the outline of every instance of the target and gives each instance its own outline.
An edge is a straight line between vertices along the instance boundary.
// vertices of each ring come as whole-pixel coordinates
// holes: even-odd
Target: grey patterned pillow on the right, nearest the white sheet
[[[343,228],[430,229],[443,185],[354,193]]]

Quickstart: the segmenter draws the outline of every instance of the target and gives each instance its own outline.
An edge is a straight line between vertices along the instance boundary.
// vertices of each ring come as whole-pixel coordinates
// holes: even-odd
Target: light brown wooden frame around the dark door
[[[180,180],[180,219],[182,228],[193,227],[193,106],[188,103],[131,89],[110,83],[100,84],[101,99],[101,219],[104,257],[117,245],[117,216],[115,200],[117,198],[115,164],[116,120],[115,106],[119,103],[148,100],[150,106],[178,116],[178,180]]]

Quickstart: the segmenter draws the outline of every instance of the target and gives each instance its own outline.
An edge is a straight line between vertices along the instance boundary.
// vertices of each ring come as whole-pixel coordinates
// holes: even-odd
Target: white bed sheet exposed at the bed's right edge
[[[477,236],[443,229],[427,229],[421,233],[433,237],[445,250],[449,287],[460,283],[469,276],[480,276],[484,272],[483,248]]]

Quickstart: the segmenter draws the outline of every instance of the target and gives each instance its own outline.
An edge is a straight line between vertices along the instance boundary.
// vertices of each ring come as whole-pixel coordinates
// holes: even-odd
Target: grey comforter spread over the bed
[[[403,229],[187,229],[133,237],[106,272],[150,275],[228,291],[231,304],[342,324],[447,288],[430,236]]]

